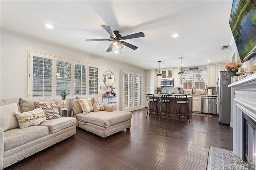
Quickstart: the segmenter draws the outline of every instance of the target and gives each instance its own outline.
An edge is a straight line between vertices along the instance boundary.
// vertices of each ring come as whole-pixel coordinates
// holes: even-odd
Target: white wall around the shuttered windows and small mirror
[[[16,35],[1,30],[1,57],[0,57],[0,98],[27,97],[28,84],[28,51],[44,53],[56,57],[72,59],[84,63],[100,66],[99,79],[100,86],[104,85],[102,81],[103,72],[111,70],[115,75],[114,85],[117,86],[116,92],[120,94],[121,70],[128,70],[145,74],[145,70],[134,68],[124,64],[108,61],[102,57],[89,55],[72,49],[67,49],[50,43],[40,42],[29,37]],[[100,90],[101,94],[104,90]],[[120,98],[118,100],[120,104]]]

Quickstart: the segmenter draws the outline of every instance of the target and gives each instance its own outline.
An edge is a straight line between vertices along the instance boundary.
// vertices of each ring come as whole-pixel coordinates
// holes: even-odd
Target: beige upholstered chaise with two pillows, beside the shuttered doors
[[[132,113],[118,111],[114,104],[103,104],[103,108],[95,111],[93,98],[85,99],[76,96],[73,102],[76,126],[94,133],[102,138],[108,137],[124,129],[131,127]],[[84,100],[84,105],[81,105]],[[102,100],[99,98],[99,100]],[[86,104],[85,104],[86,102]],[[83,107],[81,107],[83,106]]]

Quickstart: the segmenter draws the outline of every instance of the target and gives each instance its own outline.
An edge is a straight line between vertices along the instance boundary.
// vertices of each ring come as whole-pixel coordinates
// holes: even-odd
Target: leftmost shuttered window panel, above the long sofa
[[[32,59],[32,97],[52,96],[52,59],[30,56]],[[30,96],[30,95],[29,95]]]

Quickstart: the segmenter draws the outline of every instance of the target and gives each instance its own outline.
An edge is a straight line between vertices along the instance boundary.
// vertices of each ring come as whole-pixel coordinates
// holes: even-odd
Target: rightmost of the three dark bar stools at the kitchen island
[[[176,113],[175,113],[175,118],[174,118],[174,123],[176,120],[176,115],[179,115],[179,121],[180,121],[180,115],[184,115],[184,123],[186,124],[186,116],[188,116],[188,121],[190,123],[189,120],[189,114],[188,114],[188,95],[174,95],[175,96],[175,101],[176,101]],[[184,113],[181,113],[181,108],[179,108],[179,112],[178,110],[178,106],[184,106]],[[186,112],[186,108],[187,108],[187,112]]]

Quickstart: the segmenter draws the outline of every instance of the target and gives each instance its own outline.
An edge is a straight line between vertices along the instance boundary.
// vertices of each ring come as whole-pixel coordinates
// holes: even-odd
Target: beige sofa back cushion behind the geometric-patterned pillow
[[[44,98],[20,98],[20,111],[31,111],[34,110],[36,107],[34,102],[51,102],[52,99],[50,97]]]

